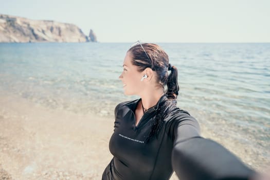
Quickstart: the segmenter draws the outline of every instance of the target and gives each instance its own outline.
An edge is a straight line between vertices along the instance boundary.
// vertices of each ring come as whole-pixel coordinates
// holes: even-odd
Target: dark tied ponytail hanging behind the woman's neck
[[[168,70],[171,71],[169,77],[168,77],[168,82],[167,82],[167,92],[166,95],[168,99],[176,99],[178,96],[178,91],[179,91],[179,85],[178,85],[178,71],[175,66],[171,66],[169,64]]]

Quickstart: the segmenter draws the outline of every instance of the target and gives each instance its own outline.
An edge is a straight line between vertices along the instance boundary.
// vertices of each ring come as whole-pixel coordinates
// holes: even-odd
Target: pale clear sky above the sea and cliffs
[[[0,13],[93,29],[99,42],[270,42],[269,0],[0,0]]]

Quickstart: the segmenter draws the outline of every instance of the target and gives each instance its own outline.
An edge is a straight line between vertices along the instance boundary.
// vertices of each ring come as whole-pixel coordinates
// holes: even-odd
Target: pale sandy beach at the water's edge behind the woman
[[[112,159],[113,117],[52,110],[17,96],[0,96],[0,104],[4,104],[0,106],[0,177],[101,178]],[[266,171],[269,161],[259,153],[200,125],[203,137],[218,141],[249,167]],[[171,180],[175,179],[173,175]]]

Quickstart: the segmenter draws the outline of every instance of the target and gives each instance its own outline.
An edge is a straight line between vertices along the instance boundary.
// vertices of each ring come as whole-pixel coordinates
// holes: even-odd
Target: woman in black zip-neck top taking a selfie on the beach
[[[114,157],[103,180],[169,179],[173,171],[181,179],[247,178],[254,174],[218,143],[202,138],[196,119],[176,106],[177,76],[177,68],[158,45],[138,41],[128,50],[119,79],[125,95],[140,99],[115,108],[109,145]],[[219,159],[216,155],[230,159],[238,172],[226,167],[228,162],[215,160]],[[230,173],[235,174],[227,176]]]

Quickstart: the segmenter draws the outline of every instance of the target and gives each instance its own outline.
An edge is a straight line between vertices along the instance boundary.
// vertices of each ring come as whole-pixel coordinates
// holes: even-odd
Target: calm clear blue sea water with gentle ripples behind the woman
[[[112,118],[132,43],[0,43],[0,95]],[[270,149],[270,43],[159,43],[178,68],[178,106],[224,138]],[[1,104],[0,106],[4,106]]]

